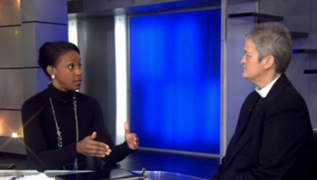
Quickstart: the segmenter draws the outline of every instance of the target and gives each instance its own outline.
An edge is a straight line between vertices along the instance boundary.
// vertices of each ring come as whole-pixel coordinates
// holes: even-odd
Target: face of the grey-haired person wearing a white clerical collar
[[[263,65],[259,63],[259,52],[251,39],[246,39],[244,44],[244,56],[241,60],[243,65],[242,77],[254,81],[263,72]]]

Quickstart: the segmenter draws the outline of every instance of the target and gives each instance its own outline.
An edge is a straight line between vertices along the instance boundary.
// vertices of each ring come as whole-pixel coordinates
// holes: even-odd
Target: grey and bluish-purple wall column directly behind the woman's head
[[[67,1],[21,1],[23,97],[46,88],[48,79],[37,63],[46,41],[68,41]]]

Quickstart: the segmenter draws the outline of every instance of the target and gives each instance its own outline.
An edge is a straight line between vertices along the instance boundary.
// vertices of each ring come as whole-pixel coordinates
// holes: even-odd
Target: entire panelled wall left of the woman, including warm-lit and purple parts
[[[46,88],[39,47],[68,41],[67,1],[0,0],[0,152],[25,154],[20,110]]]

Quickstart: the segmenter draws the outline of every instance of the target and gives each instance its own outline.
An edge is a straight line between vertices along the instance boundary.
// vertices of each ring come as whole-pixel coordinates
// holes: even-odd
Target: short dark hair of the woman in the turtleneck
[[[41,46],[38,63],[47,77],[51,78],[49,72],[46,71],[47,66],[55,66],[58,63],[59,56],[68,51],[76,51],[80,54],[75,44],[66,41],[46,42]]]

